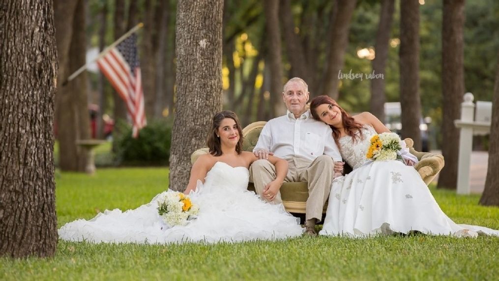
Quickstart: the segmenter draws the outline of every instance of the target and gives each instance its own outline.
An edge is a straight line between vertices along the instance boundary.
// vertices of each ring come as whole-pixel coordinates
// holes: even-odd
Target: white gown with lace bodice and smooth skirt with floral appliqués
[[[418,172],[401,161],[368,161],[373,127],[364,125],[363,139],[339,140],[343,159],[353,168],[331,184],[320,235],[367,237],[419,231],[431,235],[499,236],[485,227],[458,225],[440,209]]]

